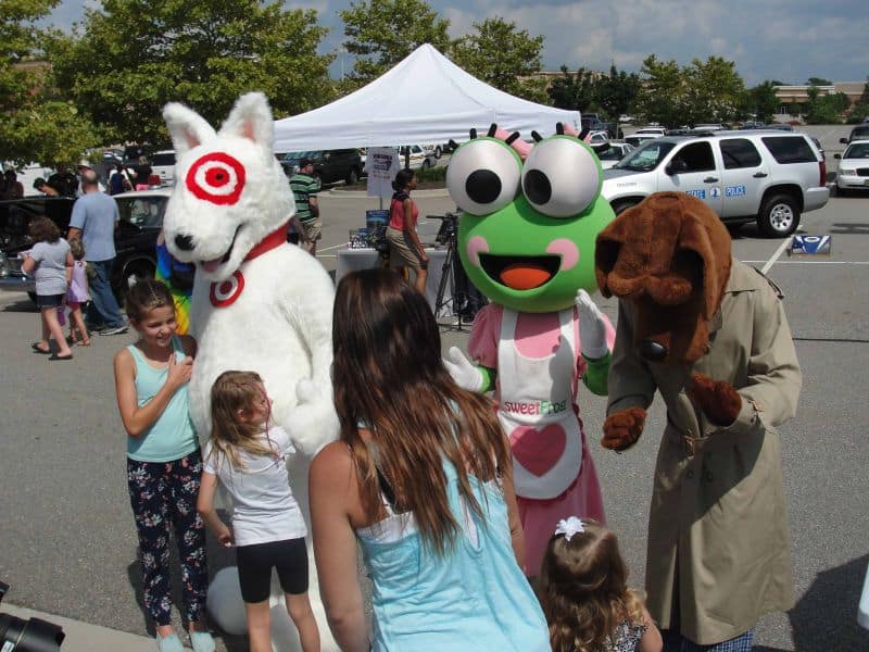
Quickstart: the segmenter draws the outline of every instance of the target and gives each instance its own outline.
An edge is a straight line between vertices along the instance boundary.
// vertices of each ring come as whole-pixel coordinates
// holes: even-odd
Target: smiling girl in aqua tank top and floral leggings
[[[190,643],[194,652],[212,652],[214,640],[204,628],[205,526],[196,511],[202,454],[187,397],[197,342],[175,334],[172,294],[159,280],[130,288],[127,316],[140,337],[115,355],[115,390],[127,431],[127,484],[139,532],[144,605],[156,625],[160,652],[182,652],[172,625],[172,526]]]

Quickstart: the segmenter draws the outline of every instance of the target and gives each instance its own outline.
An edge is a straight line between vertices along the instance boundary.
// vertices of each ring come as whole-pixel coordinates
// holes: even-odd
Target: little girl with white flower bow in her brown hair
[[[553,652],[660,652],[660,632],[626,585],[616,535],[591,519],[561,521],[540,574]]]

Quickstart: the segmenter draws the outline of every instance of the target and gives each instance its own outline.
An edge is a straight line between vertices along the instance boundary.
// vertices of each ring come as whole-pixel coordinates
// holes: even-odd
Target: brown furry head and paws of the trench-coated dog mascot
[[[595,273],[604,297],[630,304],[633,341],[646,363],[691,366],[709,350],[711,325],[730,277],[730,235],[704,202],[658,192],[628,209],[597,236]],[[730,383],[693,374],[687,388],[710,422],[727,426],[742,399]],[[632,446],[645,410],[628,408],[604,423],[602,444]]]

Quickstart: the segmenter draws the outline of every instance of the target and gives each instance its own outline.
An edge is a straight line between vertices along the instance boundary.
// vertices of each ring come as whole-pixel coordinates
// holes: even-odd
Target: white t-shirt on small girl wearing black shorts
[[[284,428],[273,426],[263,432],[274,454],[251,455],[241,452],[244,468],[234,467],[228,460],[212,455],[205,444],[202,468],[217,476],[232,497],[232,536],[236,546],[253,546],[299,539],[307,534],[305,521],[290,490],[285,457],[295,452]]]

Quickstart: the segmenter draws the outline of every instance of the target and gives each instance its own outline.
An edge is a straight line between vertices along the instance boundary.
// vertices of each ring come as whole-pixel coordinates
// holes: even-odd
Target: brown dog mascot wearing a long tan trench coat
[[[597,284],[619,299],[602,444],[635,443],[656,390],[667,406],[646,561],[667,649],[751,650],[760,615],[793,605],[774,428],[802,376],[778,288],[730,248],[715,212],[681,192],[597,237]]]

